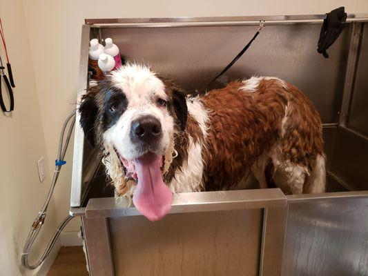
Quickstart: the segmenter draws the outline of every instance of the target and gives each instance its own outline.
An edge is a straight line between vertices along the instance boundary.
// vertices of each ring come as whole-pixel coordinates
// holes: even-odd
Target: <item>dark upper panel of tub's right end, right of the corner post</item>
[[[356,68],[356,81],[351,99],[349,128],[353,128],[368,137],[368,23],[364,24],[362,44]]]

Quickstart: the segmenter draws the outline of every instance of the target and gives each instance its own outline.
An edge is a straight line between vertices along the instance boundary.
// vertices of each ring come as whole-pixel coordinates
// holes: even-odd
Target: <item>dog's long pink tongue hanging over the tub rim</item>
[[[164,184],[159,168],[161,158],[148,152],[135,159],[138,185],[133,195],[135,207],[151,221],[162,219],[171,208],[173,193]]]

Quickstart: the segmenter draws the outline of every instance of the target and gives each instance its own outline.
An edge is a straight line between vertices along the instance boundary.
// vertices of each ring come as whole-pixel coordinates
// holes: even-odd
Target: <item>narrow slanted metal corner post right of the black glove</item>
[[[353,23],[353,30],[350,39],[349,57],[347,59],[347,70],[345,73],[344,92],[340,111],[340,126],[347,125],[349,106],[356,76],[356,64],[359,59],[360,41],[362,39],[362,23]]]

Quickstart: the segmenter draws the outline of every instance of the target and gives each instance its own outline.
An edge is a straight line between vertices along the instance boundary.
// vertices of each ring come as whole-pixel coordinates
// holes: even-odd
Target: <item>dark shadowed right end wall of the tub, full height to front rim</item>
[[[342,108],[345,116],[336,132],[330,175],[348,190],[368,190],[368,23],[357,29],[353,37],[356,61],[348,89],[351,95],[347,108]]]

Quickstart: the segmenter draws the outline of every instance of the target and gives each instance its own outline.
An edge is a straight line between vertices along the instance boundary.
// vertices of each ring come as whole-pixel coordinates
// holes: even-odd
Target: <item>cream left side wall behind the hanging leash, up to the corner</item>
[[[48,155],[21,0],[0,0],[0,17],[17,85],[14,112],[11,116],[0,112],[0,275],[45,275],[47,267],[37,273],[37,270],[25,271],[20,264],[23,243],[50,181],[48,175],[41,184],[37,175],[36,161],[43,156],[47,165]],[[1,46],[0,52],[5,61]],[[38,257],[56,224],[52,201],[39,242],[30,257]]]

